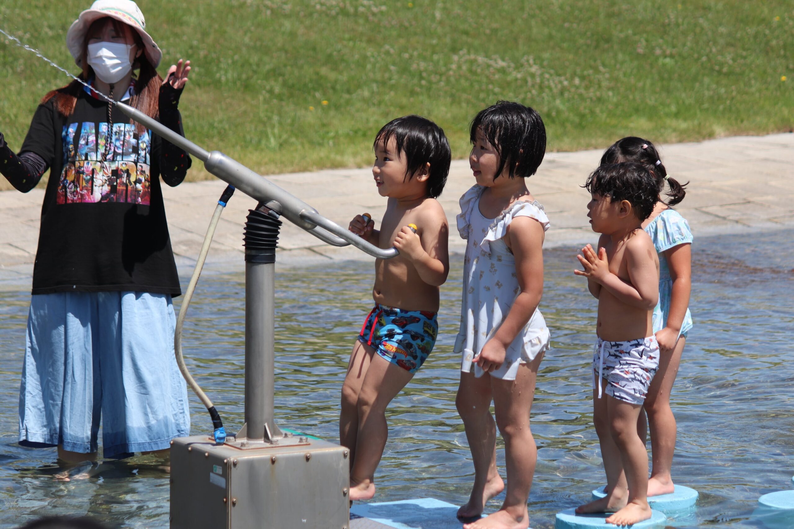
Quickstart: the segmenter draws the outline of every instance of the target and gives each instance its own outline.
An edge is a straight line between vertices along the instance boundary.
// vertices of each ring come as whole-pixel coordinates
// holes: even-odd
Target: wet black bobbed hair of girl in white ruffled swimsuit
[[[541,115],[521,103],[498,101],[480,110],[469,127],[472,145],[480,129],[499,154],[494,180],[507,165],[510,178],[529,178],[540,167],[545,155],[545,125]]]

